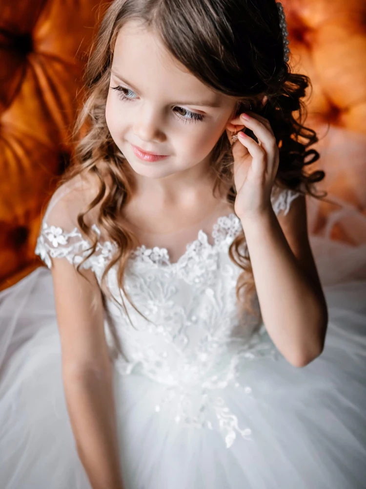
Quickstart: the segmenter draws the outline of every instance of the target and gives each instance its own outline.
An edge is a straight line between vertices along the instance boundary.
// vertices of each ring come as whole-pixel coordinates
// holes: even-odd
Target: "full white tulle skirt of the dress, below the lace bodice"
[[[227,448],[215,426],[175,421],[174,400],[156,412],[166,385],[115,372],[126,489],[365,487],[366,246],[311,244],[329,309],[323,354],[305,368],[246,363],[239,386],[212,393],[250,436],[236,430]],[[1,489],[90,489],[63,394],[48,269],[0,293],[0,345]]]

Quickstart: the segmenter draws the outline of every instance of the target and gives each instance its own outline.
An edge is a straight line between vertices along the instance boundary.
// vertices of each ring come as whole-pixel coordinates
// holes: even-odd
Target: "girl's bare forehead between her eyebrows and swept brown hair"
[[[112,62],[117,72],[143,93],[157,90],[164,98],[204,99],[220,103],[228,97],[201,82],[167,51],[159,35],[138,21],[120,29]],[[193,98],[192,98],[193,96]]]

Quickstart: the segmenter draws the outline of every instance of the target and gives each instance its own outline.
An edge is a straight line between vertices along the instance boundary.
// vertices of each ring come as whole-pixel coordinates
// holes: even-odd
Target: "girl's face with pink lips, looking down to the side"
[[[210,152],[232,119],[235,100],[215,92],[166,51],[157,35],[128,22],[111,67],[106,122],[136,174],[190,180],[207,172]],[[133,147],[168,157],[143,161]]]

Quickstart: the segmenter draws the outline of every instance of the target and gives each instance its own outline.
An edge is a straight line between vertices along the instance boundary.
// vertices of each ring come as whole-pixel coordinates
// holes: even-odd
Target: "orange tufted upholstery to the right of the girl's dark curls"
[[[366,2],[282,3],[292,69],[308,75],[313,85],[306,125],[318,133],[314,148],[321,157],[311,168],[325,170],[319,187],[332,200],[348,204],[340,213],[335,205],[308,201],[309,232],[328,232],[354,245],[366,243]]]

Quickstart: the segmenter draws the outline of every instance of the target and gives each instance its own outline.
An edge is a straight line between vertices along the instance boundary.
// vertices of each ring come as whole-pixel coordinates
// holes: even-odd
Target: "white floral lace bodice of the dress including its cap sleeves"
[[[273,193],[271,201],[276,214],[287,213],[298,195],[291,190]],[[59,258],[77,265],[89,254],[86,249],[90,243],[76,226],[65,229],[60,225],[52,218],[50,208],[43,218],[35,252],[48,267]],[[64,212],[61,216],[64,219]],[[93,229],[101,236],[97,225]],[[142,245],[133,251],[125,271],[125,289],[151,322],[124,300],[132,326],[123,308],[107,301],[106,340],[122,375],[138,370],[179,389],[181,394],[186,389],[198,389],[202,394],[202,389],[221,389],[235,381],[241,359],[276,355],[260,316],[258,319],[239,313],[237,308],[235,287],[243,270],[230,260],[228,249],[241,230],[241,221],[234,213],[220,216],[211,236],[200,229],[197,239],[187,244],[175,263],[171,263],[163,247]],[[209,238],[213,238],[212,244]],[[114,251],[115,244],[110,241],[98,243],[97,252],[82,267],[92,269],[101,283],[102,272]],[[247,255],[245,244],[240,251]],[[120,293],[123,297],[116,267],[109,270],[107,284],[116,298]],[[254,306],[259,311],[258,301]],[[218,407],[219,411],[222,407]],[[197,418],[187,418],[185,414],[191,421]],[[232,437],[232,430],[230,433]]]

